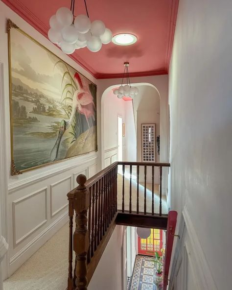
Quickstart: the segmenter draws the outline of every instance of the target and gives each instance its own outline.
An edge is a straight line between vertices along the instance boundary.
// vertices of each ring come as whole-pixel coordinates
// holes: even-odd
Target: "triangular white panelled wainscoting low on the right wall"
[[[170,274],[170,289],[217,290],[186,206],[179,226]]]

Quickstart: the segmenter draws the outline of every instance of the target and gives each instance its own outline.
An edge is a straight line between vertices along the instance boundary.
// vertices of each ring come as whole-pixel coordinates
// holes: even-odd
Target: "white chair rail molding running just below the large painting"
[[[76,161],[75,163],[71,164],[70,163],[67,163],[63,166],[60,166],[60,167],[56,167],[54,169],[49,169],[49,166],[48,166],[48,169],[46,171],[43,171],[39,174],[35,174],[33,176],[30,176],[30,177],[26,177],[22,180],[17,180],[15,182],[12,182],[8,185],[8,193],[13,193],[15,191],[19,191],[25,187],[28,187],[29,185],[32,185],[32,184],[35,184],[35,183],[38,183],[40,181],[43,181],[45,179],[48,179],[50,177],[53,177],[59,173],[63,173],[67,170],[70,170],[70,169],[74,169],[76,167],[79,167],[83,164],[88,164],[94,160],[97,159],[97,156],[93,156],[89,159],[86,159],[86,160],[82,160],[80,162]],[[64,161],[65,162],[65,161]],[[23,173],[25,174],[25,173]]]

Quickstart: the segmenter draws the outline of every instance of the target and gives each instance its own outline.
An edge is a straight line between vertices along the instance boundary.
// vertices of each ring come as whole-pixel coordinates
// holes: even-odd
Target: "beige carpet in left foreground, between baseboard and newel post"
[[[49,241],[3,283],[4,290],[66,290],[69,226]]]

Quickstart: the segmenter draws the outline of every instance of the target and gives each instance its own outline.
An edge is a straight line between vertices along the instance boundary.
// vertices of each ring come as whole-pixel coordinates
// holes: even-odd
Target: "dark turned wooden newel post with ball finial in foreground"
[[[86,176],[76,178],[79,184],[74,193],[74,210],[76,212],[76,229],[73,235],[73,249],[76,253],[76,290],[87,290],[87,252],[90,246],[87,229],[87,211],[90,206],[90,192],[86,189]]]

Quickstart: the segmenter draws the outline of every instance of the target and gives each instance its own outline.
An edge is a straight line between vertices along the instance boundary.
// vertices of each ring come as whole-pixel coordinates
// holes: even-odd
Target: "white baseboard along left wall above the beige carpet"
[[[35,239],[29,242],[23,249],[10,259],[10,275],[23,265],[36,251],[41,248],[62,226],[68,222],[68,213],[51,223]]]

